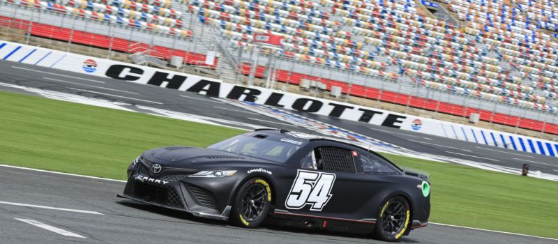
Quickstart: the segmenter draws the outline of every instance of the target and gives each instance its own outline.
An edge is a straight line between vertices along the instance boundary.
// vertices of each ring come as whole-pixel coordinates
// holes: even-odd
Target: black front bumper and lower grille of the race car
[[[216,220],[228,220],[231,209],[228,205],[219,208],[216,198],[202,187],[165,176],[151,178],[139,172],[128,178],[123,194],[117,197]]]

